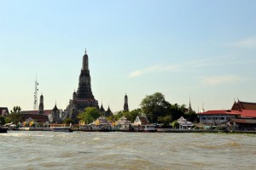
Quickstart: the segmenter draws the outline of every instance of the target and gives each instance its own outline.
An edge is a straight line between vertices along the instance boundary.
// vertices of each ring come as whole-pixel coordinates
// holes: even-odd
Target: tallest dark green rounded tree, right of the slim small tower
[[[166,101],[161,93],[146,96],[141,102],[143,113],[148,117],[149,122],[157,122],[158,116],[166,116],[171,104]]]

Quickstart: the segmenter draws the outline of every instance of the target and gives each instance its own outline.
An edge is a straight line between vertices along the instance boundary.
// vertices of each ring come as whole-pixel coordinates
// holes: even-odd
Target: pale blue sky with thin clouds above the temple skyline
[[[0,106],[65,109],[85,48],[92,93],[115,111],[160,92],[201,111],[256,102],[254,0],[0,0]]]

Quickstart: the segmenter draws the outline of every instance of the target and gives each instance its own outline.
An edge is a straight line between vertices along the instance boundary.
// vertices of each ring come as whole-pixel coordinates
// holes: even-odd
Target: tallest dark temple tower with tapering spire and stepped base
[[[79,76],[79,88],[73,92],[73,99],[70,99],[67,106],[67,116],[78,122],[77,116],[86,107],[96,107],[99,109],[98,101],[94,98],[90,86],[90,70],[88,55],[83,56],[83,65]]]

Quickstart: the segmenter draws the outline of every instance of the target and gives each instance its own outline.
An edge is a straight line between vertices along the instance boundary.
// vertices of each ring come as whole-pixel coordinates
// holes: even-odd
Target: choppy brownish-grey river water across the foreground
[[[0,169],[256,169],[256,135],[0,133]]]

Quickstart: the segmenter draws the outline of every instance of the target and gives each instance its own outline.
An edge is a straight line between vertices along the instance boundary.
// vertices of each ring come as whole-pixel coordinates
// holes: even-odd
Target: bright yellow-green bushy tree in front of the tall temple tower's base
[[[86,124],[89,124],[90,122],[93,122],[101,116],[101,112],[96,109],[96,107],[86,107],[83,112],[79,113],[77,116],[80,120],[80,122],[84,122]]]

